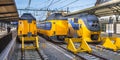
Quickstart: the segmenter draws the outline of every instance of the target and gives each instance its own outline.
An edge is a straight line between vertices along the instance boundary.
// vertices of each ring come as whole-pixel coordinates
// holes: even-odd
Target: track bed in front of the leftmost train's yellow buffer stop
[[[20,60],[48,60],[47,56],[39,49],[35,50],[21,50]]]

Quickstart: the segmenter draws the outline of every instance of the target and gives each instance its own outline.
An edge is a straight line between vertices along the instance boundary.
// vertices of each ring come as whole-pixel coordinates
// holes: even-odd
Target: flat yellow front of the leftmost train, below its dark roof
[[[19,20],[18,36],[27,35],[31,32],[32,35],[37,35],[36,21],[32,20],[28,23],[28,20]]]

